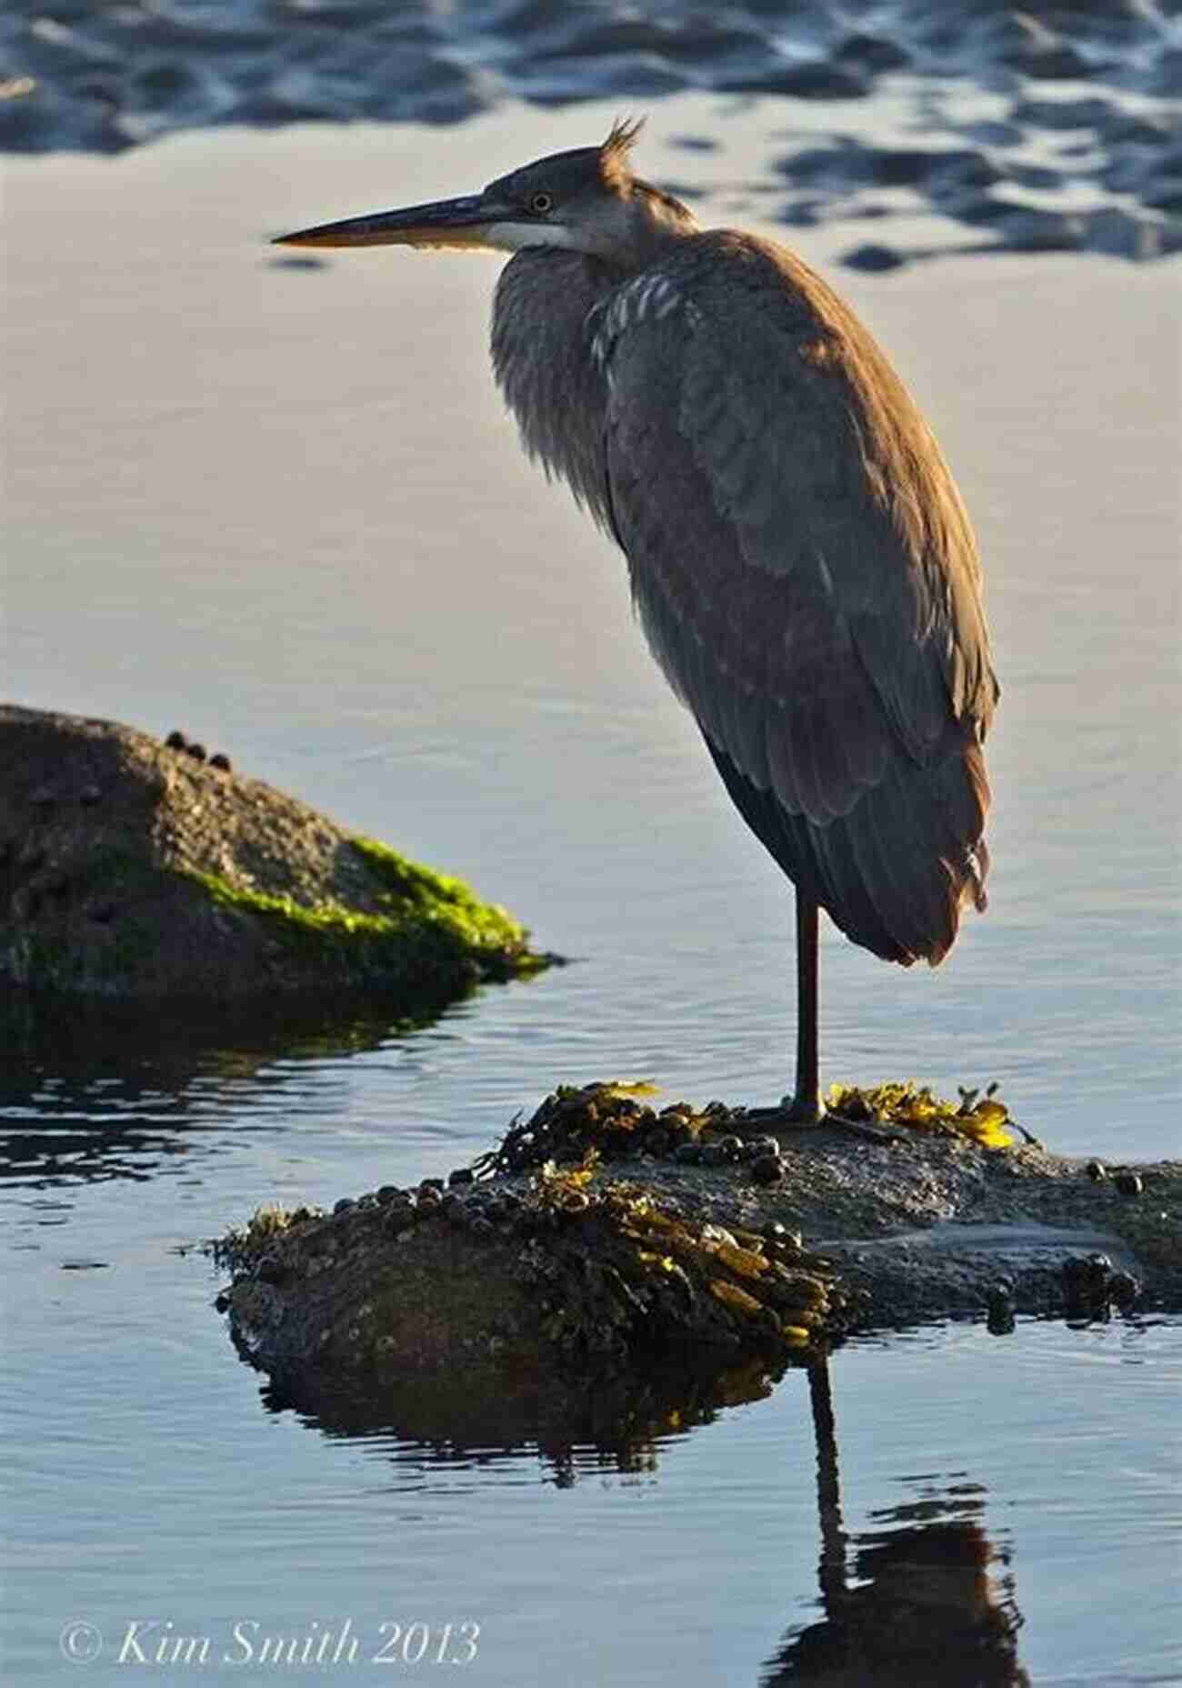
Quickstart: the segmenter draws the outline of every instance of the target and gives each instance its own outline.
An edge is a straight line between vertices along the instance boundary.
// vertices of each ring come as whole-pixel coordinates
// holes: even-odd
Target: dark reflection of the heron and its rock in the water
[[[248,1350],[240,1350],[257,1364]],[[760,1673],[762,1688],[1025,1688],[1018,1663],[1022,1615],[1005,1572],[1006,1551],[984,1529],[984,1489],[956,1474],[925,1479],[924,1492],[871,1514],[851,1538],[841,1516],[838,1438],[829,1362],[706,1369],[652,1366],[643,1376],[588,1379],[517,1374],[503,1366],[442,1376],[400,1376],[382,1388],[306,1372],[270,1379],[263,1404],[297,1411],[321,1433],[392,1438],[397,1462],[429,1452],[437,1465],[471,1470],[534,1448],[557,1489],[594,1472],[653,1474],[672,1438],[723,1411],[800,1388],[805,1371],[816,1436],[819,1583],[824,1615],[790,1629]],[[1003,1575],[998,1577],[998,1566]],[[772,1622],[775,1615],[768,1614]]]

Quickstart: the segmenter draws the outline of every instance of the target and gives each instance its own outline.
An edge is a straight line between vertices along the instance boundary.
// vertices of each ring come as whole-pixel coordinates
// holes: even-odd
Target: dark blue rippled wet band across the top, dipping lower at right
[[[1147,260],[1182,245],[1177,12],[1174,0],[1020,12],[809,0],[718,17],[687,0],[643,12],[620,0],[15,0],[0,19],[0,149],[120,152],[221,123],[459,123],[505,100],[648,103],[682,89],[758,95],[780,122],[836,101],[836,128],[861,130],[778,160],[795,194],[787,225],[805,219],[807,194],[811,221],[920,208],[984,231],[973,250]],[[922,140],[878,143],[865,113],[881,95],[897,123],[900,91]],[[961,115],[981,101],[991,115]],[[733,118],[719,111],[723,138]],[[854,248],[856,267],[934,250],[883,246],[870,262]]]

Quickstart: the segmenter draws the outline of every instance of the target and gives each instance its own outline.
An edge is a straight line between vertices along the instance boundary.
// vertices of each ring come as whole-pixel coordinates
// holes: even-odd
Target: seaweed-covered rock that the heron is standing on
[[[973,1119],[974,1096],[946,1114]],[[260,1210],[216,1246],[223,1307],[241,1352],[289,1377],[809,1362],[849,1330],[1182,1307],[1180,1163],[1140,1166],[1130,1200],[1035,1143],[991,1146],[991,1112],[898,1112],[768,1129],[767,1111],[562,1089],[471,1180]]]

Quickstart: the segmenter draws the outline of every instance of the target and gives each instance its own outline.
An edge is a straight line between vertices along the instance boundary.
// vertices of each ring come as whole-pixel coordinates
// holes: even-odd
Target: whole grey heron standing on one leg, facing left
[[[984,908],[998,684],[952,476],[848,306],[795,253],[699,230],[632,172],[638,125],[480,194],[287,246],[513,253],[493,370],[525,451],[628,559],[653,657],[795,885],[797,1075],[821,1117],[817,908],[941,962]]]

